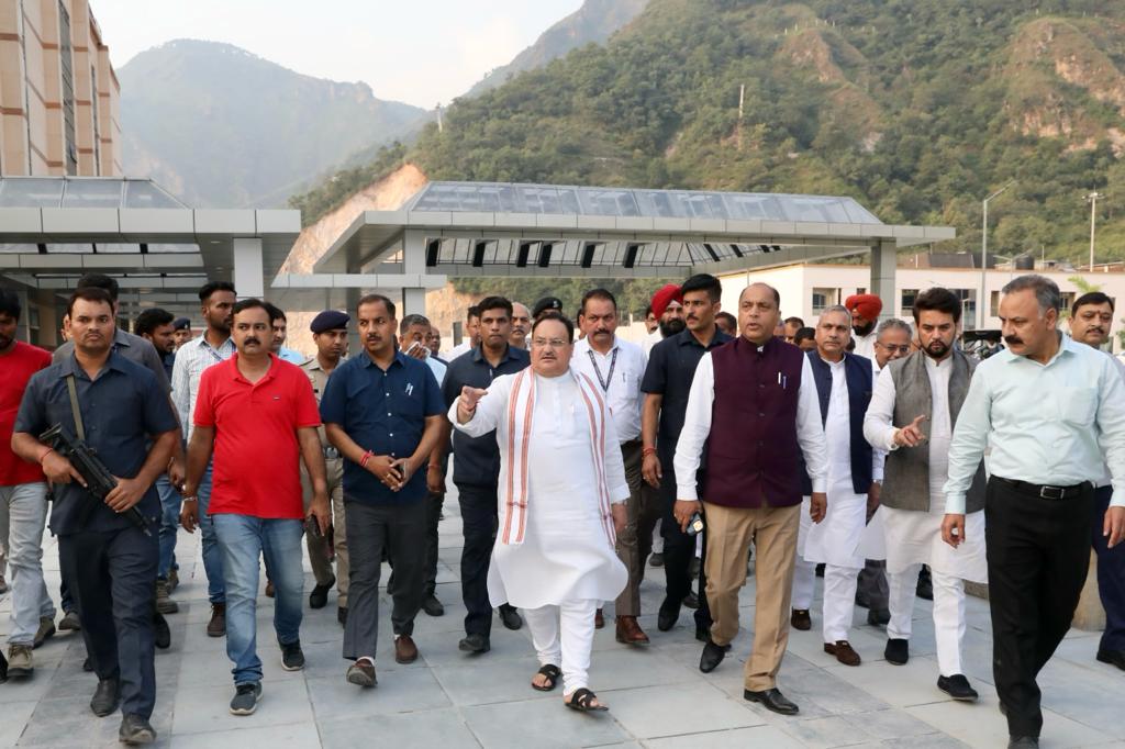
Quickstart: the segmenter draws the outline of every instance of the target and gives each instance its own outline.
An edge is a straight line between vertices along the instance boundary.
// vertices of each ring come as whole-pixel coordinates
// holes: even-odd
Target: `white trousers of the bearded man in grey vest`
[[[910,639],[910,619],[914,614],[915,592],[921,565],[911,565],[899,575],[886,574],[890,587],[891,621],[886,637]],[[963,674],[961,643],[965,639],[965,583],[960,577],[944,575],[930,568],[934,581],[934,639],[937,646],[937,667],[942,676]]]

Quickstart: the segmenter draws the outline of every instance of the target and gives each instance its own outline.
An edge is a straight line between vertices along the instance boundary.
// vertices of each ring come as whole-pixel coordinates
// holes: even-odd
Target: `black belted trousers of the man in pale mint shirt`
[[[992,612],[992,674],[1011,736],[1043,727],[1035,678],[1062,642],[1090,563],[1092,485],[1070,499],[1043,499],[988,482],[984,538]]]

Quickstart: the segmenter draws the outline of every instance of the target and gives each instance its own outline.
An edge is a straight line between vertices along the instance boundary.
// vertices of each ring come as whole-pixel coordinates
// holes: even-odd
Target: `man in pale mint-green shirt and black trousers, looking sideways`
[[[1114,491],[1100,531],[1110,549],[1125,535],[1125,385],[1105,354],[1059,333],[1053,281],[1020,276],[1001,295],[1007,349],[978,364],[969,386],[950,445],[942,538],[958,551],[969,543],[965,495],[988,448],[992,670],[1008,746],[1025,748],[1038,746],[1043,725],[1036,677],[1086,583],[1091,477],[1106,463]]]

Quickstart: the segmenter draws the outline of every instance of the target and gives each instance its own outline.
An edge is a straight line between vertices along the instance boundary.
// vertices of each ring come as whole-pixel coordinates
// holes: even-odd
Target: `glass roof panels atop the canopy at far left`
[[[187,208],[152,180],[3,177],[0,208]]]

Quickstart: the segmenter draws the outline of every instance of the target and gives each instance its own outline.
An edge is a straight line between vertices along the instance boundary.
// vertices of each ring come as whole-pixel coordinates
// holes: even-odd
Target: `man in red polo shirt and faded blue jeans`
[[[181,517],[191,532],[199,521],[196,490],[214,452],[208,512],[226,585],[226,655],[234,661],[235,684],[231,712],[249,715],[262,694],[254,619],[262,556],[276,590],[273,629],[281,667],[292,671],[305,666],[302,459],[313,482],[312,532],[327,530],[331,511],[313,386],[299,368],[270,353],[273,321],[266,303],[238,301],[233,321],[236,353],[199,380]]]

